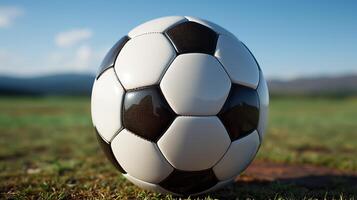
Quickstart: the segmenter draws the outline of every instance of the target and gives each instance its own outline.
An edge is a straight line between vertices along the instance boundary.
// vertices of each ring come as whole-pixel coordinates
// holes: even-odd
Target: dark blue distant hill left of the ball
[[[2,95],[89,95],[95,77],[58,74],[31,78],[0,76]]]

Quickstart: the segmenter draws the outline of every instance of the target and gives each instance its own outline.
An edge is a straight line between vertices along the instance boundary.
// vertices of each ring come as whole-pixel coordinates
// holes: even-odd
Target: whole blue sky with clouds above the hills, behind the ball
[[[213,21],[268,77],[357,73],[357,1],[0,2],[0,74],[95,72],[136,25],[167,15]]]

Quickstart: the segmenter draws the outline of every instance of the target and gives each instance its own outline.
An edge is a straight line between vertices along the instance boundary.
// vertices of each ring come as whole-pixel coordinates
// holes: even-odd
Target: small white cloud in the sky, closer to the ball
[[[55,43],[59,47],[71,47],[91,38],[92,35],[93,33],[90,29],[73,29],[58,33],[55,36]]]

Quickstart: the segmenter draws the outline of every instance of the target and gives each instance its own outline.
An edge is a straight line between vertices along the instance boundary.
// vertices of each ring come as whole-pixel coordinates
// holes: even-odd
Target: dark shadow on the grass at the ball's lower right
[[[204,199],[302,199],[317,197],[335,199],[357,196],[356,175],[320,175],[302,176],[295,178],[281,178],[276,180],[257,180],[243,178],[218,189],[193,198]]]

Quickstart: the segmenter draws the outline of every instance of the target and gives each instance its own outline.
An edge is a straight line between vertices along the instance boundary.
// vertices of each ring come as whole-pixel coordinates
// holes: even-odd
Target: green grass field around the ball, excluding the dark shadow
[[[357,98],[273,98],[256,160],[356,174],[356,136]],[[190,198],[356,199],[356,177],[331,175],[321,187],[255,177]],[[312,180],[319,178],[326,177]],[[177,197],[141,190],[117,173],[97,144],[89,98],[0,97],[0,199],[82,198]]]

